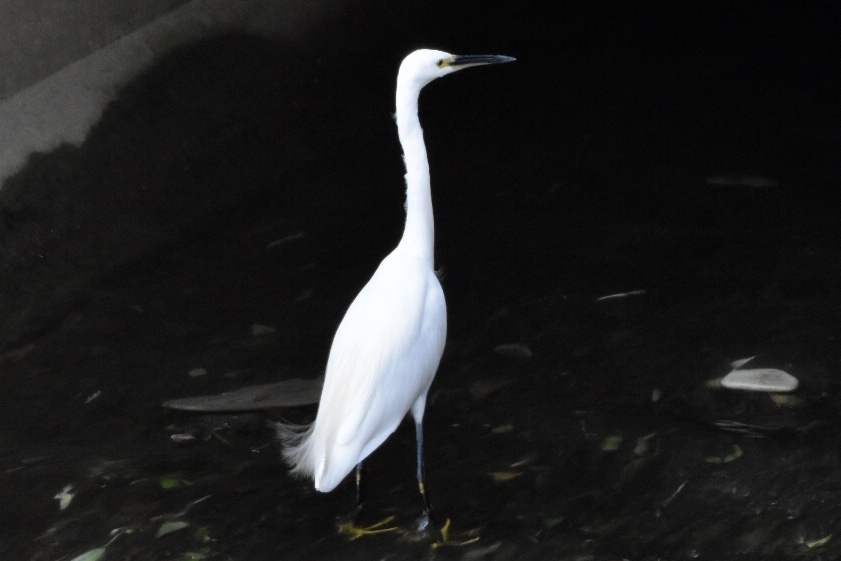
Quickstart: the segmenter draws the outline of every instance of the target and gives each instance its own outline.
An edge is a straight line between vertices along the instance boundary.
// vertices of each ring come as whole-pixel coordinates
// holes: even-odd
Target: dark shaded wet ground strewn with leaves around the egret
[[[841,557],[837,119],[813,51],[783,57],[817,44],[797,18],[766,43],[711,17],[706,54],[684,44],[709,29],[695,14],[581,9],[535,44],[531,13],[490,45],[499,13],[434,33],[519,57],[421,101],[450,318],[426,416],[443,546],[409,531],[409,423],[368,462],[367,516],[401,530],[348,541],[352,481],[290,478],[267,426],[313,408],[160,406],[322,373],[400,235],[407,14],[365,45],[334,22],[312,49],[174,52],[0,191],[3,559]],[[708,181],[733,173],[768,181]],[[799,388],[717,385],[754,355]]]

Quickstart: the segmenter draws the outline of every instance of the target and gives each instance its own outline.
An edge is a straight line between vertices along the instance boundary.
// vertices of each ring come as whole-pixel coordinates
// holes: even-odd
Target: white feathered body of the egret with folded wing
[[[446,306],[434,272],[393,252],[333,340],[310,442],[316,489],[335,488],[426,396],[445,338]]]

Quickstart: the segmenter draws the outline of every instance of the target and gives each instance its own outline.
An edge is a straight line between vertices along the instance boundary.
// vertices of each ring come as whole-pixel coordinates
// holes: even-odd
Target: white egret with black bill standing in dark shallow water
[[[395,120],[406,164],[403,237],[339,324],[315,422],[278,425],[283,456],[292,473],[312,478],[318,491],[332,491],[356,467],[357,512],[362,507],[362,461],[411,411],[423,500],[421,527],[429,521],[422,422],[426,395],[444,352],[447,309],[433,263],[429,164],[418,120],[420,91],[456,70],[513,60],[423,49],[400,65]]]

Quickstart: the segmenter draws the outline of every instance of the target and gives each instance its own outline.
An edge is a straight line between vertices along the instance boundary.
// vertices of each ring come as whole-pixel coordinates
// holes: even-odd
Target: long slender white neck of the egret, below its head
[[[407,81],[408,82],[408,81]],[[435,225],[432,216],[432,193],[429,185],[429,162],[423,130],[418,120],[418,96],[422,85],[397,80],[397,134],[403,147],[406,164],[406,227],[400,246],[417,252],[433,267]]]

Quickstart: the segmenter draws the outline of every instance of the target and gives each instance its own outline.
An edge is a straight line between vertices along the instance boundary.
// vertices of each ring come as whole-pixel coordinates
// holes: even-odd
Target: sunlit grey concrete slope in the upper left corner
[[[33,152],[80,144],[157,56],[225,31],[301,40],[347,0],[0,0],[0,190]]]

